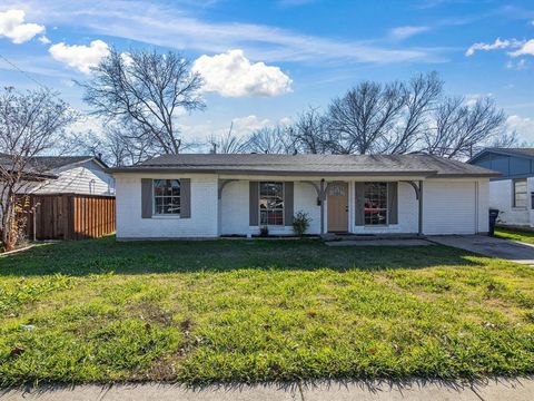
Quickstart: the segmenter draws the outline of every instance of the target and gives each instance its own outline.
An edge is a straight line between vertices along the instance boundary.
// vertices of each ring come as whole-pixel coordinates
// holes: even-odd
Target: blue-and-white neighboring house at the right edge
[[[502,174],[490,183],[497,224],[534,227],[534,148],[487,148],[468,163]]]

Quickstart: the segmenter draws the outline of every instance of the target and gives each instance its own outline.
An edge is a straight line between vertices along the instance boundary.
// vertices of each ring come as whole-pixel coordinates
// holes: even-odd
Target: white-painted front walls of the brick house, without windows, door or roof
[[[249,226],[249,179],[281,180],[279,177],[236,177],[224,186],[221,178],[197,174],[117,174],[117,238],[189,238],[219,235],[251,235],[258,227]],[[156,216],[141,218],[141,178],[190,178],[191,217]],[[225,177],[224,179],[228,179]],[[294,182],[294,212],[304,211],[312,218],[309,234],[320,234],[320,206],[316,188],[306,179]],[[333,179],[333,180],[339,180]],[[355,185],[348,183],[348,227],[356,234],[407,234],[418,231],[418,202],[414,188],[398,185],[398,224],[356,226]],[[318,187],[319,180],[313,179]],[[488,179],[427,179],[424,182],[424,234],[475,234],[487,232]],[[328,227],[327,202],[324,206],[324,229]],[[270,234],[291,234],[291,227],[269,227]]]

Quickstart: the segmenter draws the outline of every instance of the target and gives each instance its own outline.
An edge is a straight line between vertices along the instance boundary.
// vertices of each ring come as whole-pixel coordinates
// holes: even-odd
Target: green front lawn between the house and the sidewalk
[[[459,250],[107,237],[0,258],[0,385],[532,373],[534,268]]]

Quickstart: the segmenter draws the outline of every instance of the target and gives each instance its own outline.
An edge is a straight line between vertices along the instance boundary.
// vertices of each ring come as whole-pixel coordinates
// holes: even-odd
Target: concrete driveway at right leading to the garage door
[[[534,265],[534,245],[485,235],[436,235],[428,237],[428,239],[484,256]]]

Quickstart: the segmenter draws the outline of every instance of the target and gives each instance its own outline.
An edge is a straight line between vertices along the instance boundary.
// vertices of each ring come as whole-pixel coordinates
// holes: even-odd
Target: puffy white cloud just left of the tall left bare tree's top
[[[77,68],[83,74],[89,74],[91,67],[109,53],[108,45],[102,40],[93,40],[89,46],[63,42],[50,46],[50,55],[58,61],[66,62],[69,67]]]

